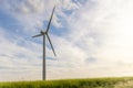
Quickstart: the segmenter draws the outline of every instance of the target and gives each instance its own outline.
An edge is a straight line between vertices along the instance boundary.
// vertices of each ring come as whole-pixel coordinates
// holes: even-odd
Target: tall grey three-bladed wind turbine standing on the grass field
[[[39,37],[39,36],[43,36],[43,62],[42,62],[42,79],[43,80],[45,80],[45,37],[48,37],[48,41],[49,41],[49,43],[50,43],[50,45],[51,45],[51,48],[52,48],[52,52],[53,52],[53,54],[54,54],[54,56],[55,56],[55,52],[54,52],[54,48],[53,48],[53,45],[52,45],[52,42],[51,42],[51,40],[50,40],[50,36],[49,36],[49,30],[50,30],[50,24],[51,24],[51,21],[52,21],[52,16],[53,16],[53,12],[54,12],[54,9],[55,9],[55,7],[53,8],[53,10],[52,10],[52,14],[51,14],[51,16],[50,16],[50,21],[49,21],[49,23],[48,23],[48,26],[47,26],[47,30],[45,31],[40,31],[40,34],[38,34],[38,35],[34,35],[34,36],[32,36],[32,37]]]

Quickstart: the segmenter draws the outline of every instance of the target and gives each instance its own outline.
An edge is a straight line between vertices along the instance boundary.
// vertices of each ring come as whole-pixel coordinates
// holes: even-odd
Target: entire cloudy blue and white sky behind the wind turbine
[[[0,0],[0,81],[133,76],[133,0]]]

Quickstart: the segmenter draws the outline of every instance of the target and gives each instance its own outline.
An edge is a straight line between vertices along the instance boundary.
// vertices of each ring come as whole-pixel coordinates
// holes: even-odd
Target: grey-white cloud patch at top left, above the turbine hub
[[[3,10],[13,15],[23,26],[24,31],[37,32],[38,29],[43,29],[43,22],[49,21],[53,7],[57,4],[58,12],[62,11],[62,7],[66,10],[74,10],[78,6],[71,0],[23,0],[23,1],[1,1]],[[57,16],[57,10],[54,12],[53,25],[61,28],[62,23]]]

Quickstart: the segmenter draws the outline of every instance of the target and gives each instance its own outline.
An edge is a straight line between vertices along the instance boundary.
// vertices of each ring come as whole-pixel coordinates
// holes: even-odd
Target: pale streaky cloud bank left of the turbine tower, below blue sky
[[[38,65],[41,64],[41,59],[39,59],[40,53],[35,52],[37,50],[32,51],[30,47],[18,45],[17,42],[20,40],[16,40],[16,42],[8,40],[7,33],[2,31],[3,29],[0,29],[0,81],[21,80],[30,75],[39,74],[40,67]],[[39,44],[37,45],[30,41],[29,44],[31,47],[40,48]],[[38,76],[40,75],[29,79],[37,79]]]

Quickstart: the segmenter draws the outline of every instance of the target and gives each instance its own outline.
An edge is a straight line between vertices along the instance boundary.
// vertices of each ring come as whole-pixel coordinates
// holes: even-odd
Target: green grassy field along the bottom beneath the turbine
[[[133,77],[0,82],[0,88],[133,88]]]

